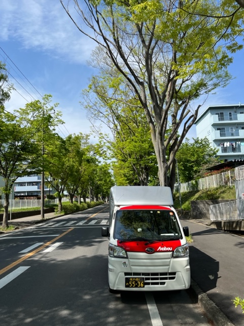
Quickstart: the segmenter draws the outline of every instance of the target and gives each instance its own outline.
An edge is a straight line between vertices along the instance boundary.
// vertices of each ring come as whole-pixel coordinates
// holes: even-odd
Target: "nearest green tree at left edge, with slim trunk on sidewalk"
[[[3,228],[8,227],[9,195],[15,180],[40,173],[43,168],[42,145],[60,122],[59,112],[51,114],[50,99],[50,95],[45,95],[42,102],[27,103],[14,114],[6,110],[0,112],[0,175],[5,182],[2,188],[5,197]]]

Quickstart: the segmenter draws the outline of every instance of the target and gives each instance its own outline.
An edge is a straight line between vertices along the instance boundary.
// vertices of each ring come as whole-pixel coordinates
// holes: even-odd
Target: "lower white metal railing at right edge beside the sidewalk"
[[[211,221],[244,220],[244,200],[211,205],[209,212]]]

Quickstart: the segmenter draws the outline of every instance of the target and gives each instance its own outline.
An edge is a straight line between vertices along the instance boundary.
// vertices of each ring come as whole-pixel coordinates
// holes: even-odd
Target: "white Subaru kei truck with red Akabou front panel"
[[[191,283],[189,228],[180,225],[170,187],[113,186],[109,196],[109,291],[169,291]]]

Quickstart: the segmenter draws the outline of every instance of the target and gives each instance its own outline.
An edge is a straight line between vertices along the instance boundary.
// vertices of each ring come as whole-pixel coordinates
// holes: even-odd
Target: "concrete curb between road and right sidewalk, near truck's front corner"
[[[195,296],[199,306],[203,309],[207,318],[215,326],[235,326],[226,315],[220,310],[214,302],[212,302],[207,294],[203,292],[198,284],[191,279],[191,286],[189,289]]]

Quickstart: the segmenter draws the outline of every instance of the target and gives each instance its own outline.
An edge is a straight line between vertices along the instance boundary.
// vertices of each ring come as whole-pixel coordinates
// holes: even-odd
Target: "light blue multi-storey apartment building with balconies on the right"
[[[221,160],[244,159],[244,104],[210,105],[195,125],[197,137],[218,148]]]

